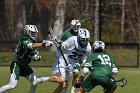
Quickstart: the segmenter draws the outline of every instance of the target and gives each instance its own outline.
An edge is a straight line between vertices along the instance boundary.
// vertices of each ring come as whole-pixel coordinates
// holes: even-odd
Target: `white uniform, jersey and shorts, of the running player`
[[[88,43],[86,47],[81,47],[77,36],[72,36],[68,38],[66,41],[62,42],[61,45],[62,53],[67,63],[71,65],[72,68],[76,62],[85,62],[87,56],[91,52],[90,43]],[[52,68],[52,74],[59,73],[60,76],[66,77],[67,80],[70,80],[71,71],[67,73],[66,69],[66,62],[61,52],[59,51],[55,64]]]

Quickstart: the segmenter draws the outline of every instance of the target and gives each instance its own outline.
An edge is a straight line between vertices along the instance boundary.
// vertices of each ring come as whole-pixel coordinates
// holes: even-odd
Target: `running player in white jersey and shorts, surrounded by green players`
[[[64,42],[55,42],[54,44],[60,52],[52,68],[52,76],[40,77],[33,81],[33,85],[44,81],[59,83],[59,86],[53,93],[62,93],[62,90],[67,88],[66,81],[71,79],[73,65],[76,62],[85,62],[87,56],[91,52],[89,43],[90,33],[85,28],[80,28],[78,36],[72,36]]]

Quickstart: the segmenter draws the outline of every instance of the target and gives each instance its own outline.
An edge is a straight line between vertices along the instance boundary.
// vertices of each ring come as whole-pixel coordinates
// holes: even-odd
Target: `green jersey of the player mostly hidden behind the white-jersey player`
[[[65,41],[65,40],[67,40],[67,39],[68,39],[69,37],[71,37],[71,36],[77,36],[77,33],[75,33],[75,32],[73,31],[72,28],[66,30],[66,31],[63,33],[63,35],[62,35],[62,37],[61,37],[61,41]]]

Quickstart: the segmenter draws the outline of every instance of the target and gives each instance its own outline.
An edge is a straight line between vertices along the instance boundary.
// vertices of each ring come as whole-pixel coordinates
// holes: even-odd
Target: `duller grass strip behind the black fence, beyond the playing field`
[[[41,61],[32,62],[31,66],[52,66],[56,59],[56,52],[51,51],[40,51]],[[110,48],[106,50],[106,53],[113,56],[117,66],[137,66],[137,50],[136,48]],[[0,52],[0,65],[9,65],[15,52]]]

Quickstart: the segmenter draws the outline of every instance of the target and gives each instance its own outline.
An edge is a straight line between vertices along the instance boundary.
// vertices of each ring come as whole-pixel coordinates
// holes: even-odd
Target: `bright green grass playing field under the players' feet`
[[[51,75],[51,68],[47,67],[33,67],[37,76]],[[9,67],[0,67],[0,86],[9,82]],[[139,68],[120,68],[120,72],[116,79],[125,77],[128,80],[127,86],[124,88],[118,87],[115,93],[140,93],[140,69]],[[52,93],[57,86],[55,83],[44,82],[38,85],[36,93]],[[20,77],[19,82],[15,89],[7,91],[6,93],[28,93],[30,83],[23,77]],[[70,93],[71,84],[68,88]],[[89,93],[103,93],[100,86],[96,87]]]

